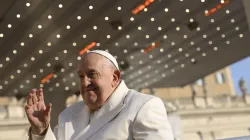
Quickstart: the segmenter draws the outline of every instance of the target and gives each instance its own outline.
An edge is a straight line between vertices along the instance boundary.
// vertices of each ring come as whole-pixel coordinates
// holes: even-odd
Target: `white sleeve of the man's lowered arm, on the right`
[[[133,126],[135,140],[174,140],[162,100],[149,99],[139,110]]]

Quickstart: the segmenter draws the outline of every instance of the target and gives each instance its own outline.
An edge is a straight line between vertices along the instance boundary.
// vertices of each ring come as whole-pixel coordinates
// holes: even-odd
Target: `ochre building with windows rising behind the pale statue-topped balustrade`
[[[188,74],[188,73],[187,73]],[[193,84],[184,87],[142,89],[144,93],[154,94],[163,100],[191,98],[194,96],[235,95],[229,67],[218,70]],[[194,93],[195,92],[195,93]]]

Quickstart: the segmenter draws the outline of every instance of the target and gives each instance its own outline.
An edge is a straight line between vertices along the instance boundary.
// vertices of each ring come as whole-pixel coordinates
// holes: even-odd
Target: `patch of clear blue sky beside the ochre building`
[[[234,83],[235,92],[241,95],[239,88],[239,80],[244,77],[247,83],[248,93],[250,92],[250,57],[242,59],[230,65],[232,79]]]

